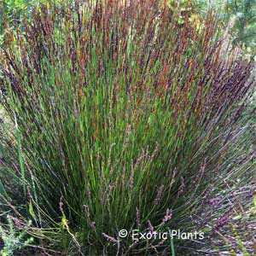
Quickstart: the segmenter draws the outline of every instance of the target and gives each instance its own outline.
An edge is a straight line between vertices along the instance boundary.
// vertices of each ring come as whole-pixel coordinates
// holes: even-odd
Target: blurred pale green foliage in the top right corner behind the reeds
[[[224,30],[231,19],[235,20],[230,32],[232,44],[239,46],[244,54],[256,54],[256,1],[255,0],[193,0],[193,1],[169,1],[172,8],[179,5],[190,12],[205,16],[208,9],[213,9],[218,13]]]

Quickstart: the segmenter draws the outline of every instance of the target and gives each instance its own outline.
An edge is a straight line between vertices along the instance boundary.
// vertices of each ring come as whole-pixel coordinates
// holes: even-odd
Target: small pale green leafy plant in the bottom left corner
[[[20,249],[24,249],[33,242],[33,237],[27,236],[27,229],[31,226],[32,222],[22,226],[22,230],[17,230],[14,218],[7,216],[8,224],[0,224],[0,239],[3,243],[3,248],[0,251],[1,256],[12,256]]]

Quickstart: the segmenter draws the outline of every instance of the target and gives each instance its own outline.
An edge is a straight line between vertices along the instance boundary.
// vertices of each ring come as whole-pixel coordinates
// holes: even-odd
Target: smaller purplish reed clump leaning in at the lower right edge
[[[255,121],[249,108],[243,113],[232,143],[214,171],[215,180],[191,218],[207,239],[197,247],[198,255],[251,255],[255,229]]]

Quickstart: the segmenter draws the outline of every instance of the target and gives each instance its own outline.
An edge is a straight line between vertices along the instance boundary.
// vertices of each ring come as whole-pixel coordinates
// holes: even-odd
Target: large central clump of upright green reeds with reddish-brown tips
[[[216,26],[165,1],[106,0],[48,4],[9,32],[3,211],[68,255],[161,251],[169,240],[119,230],[195,229],[252,85]]]

